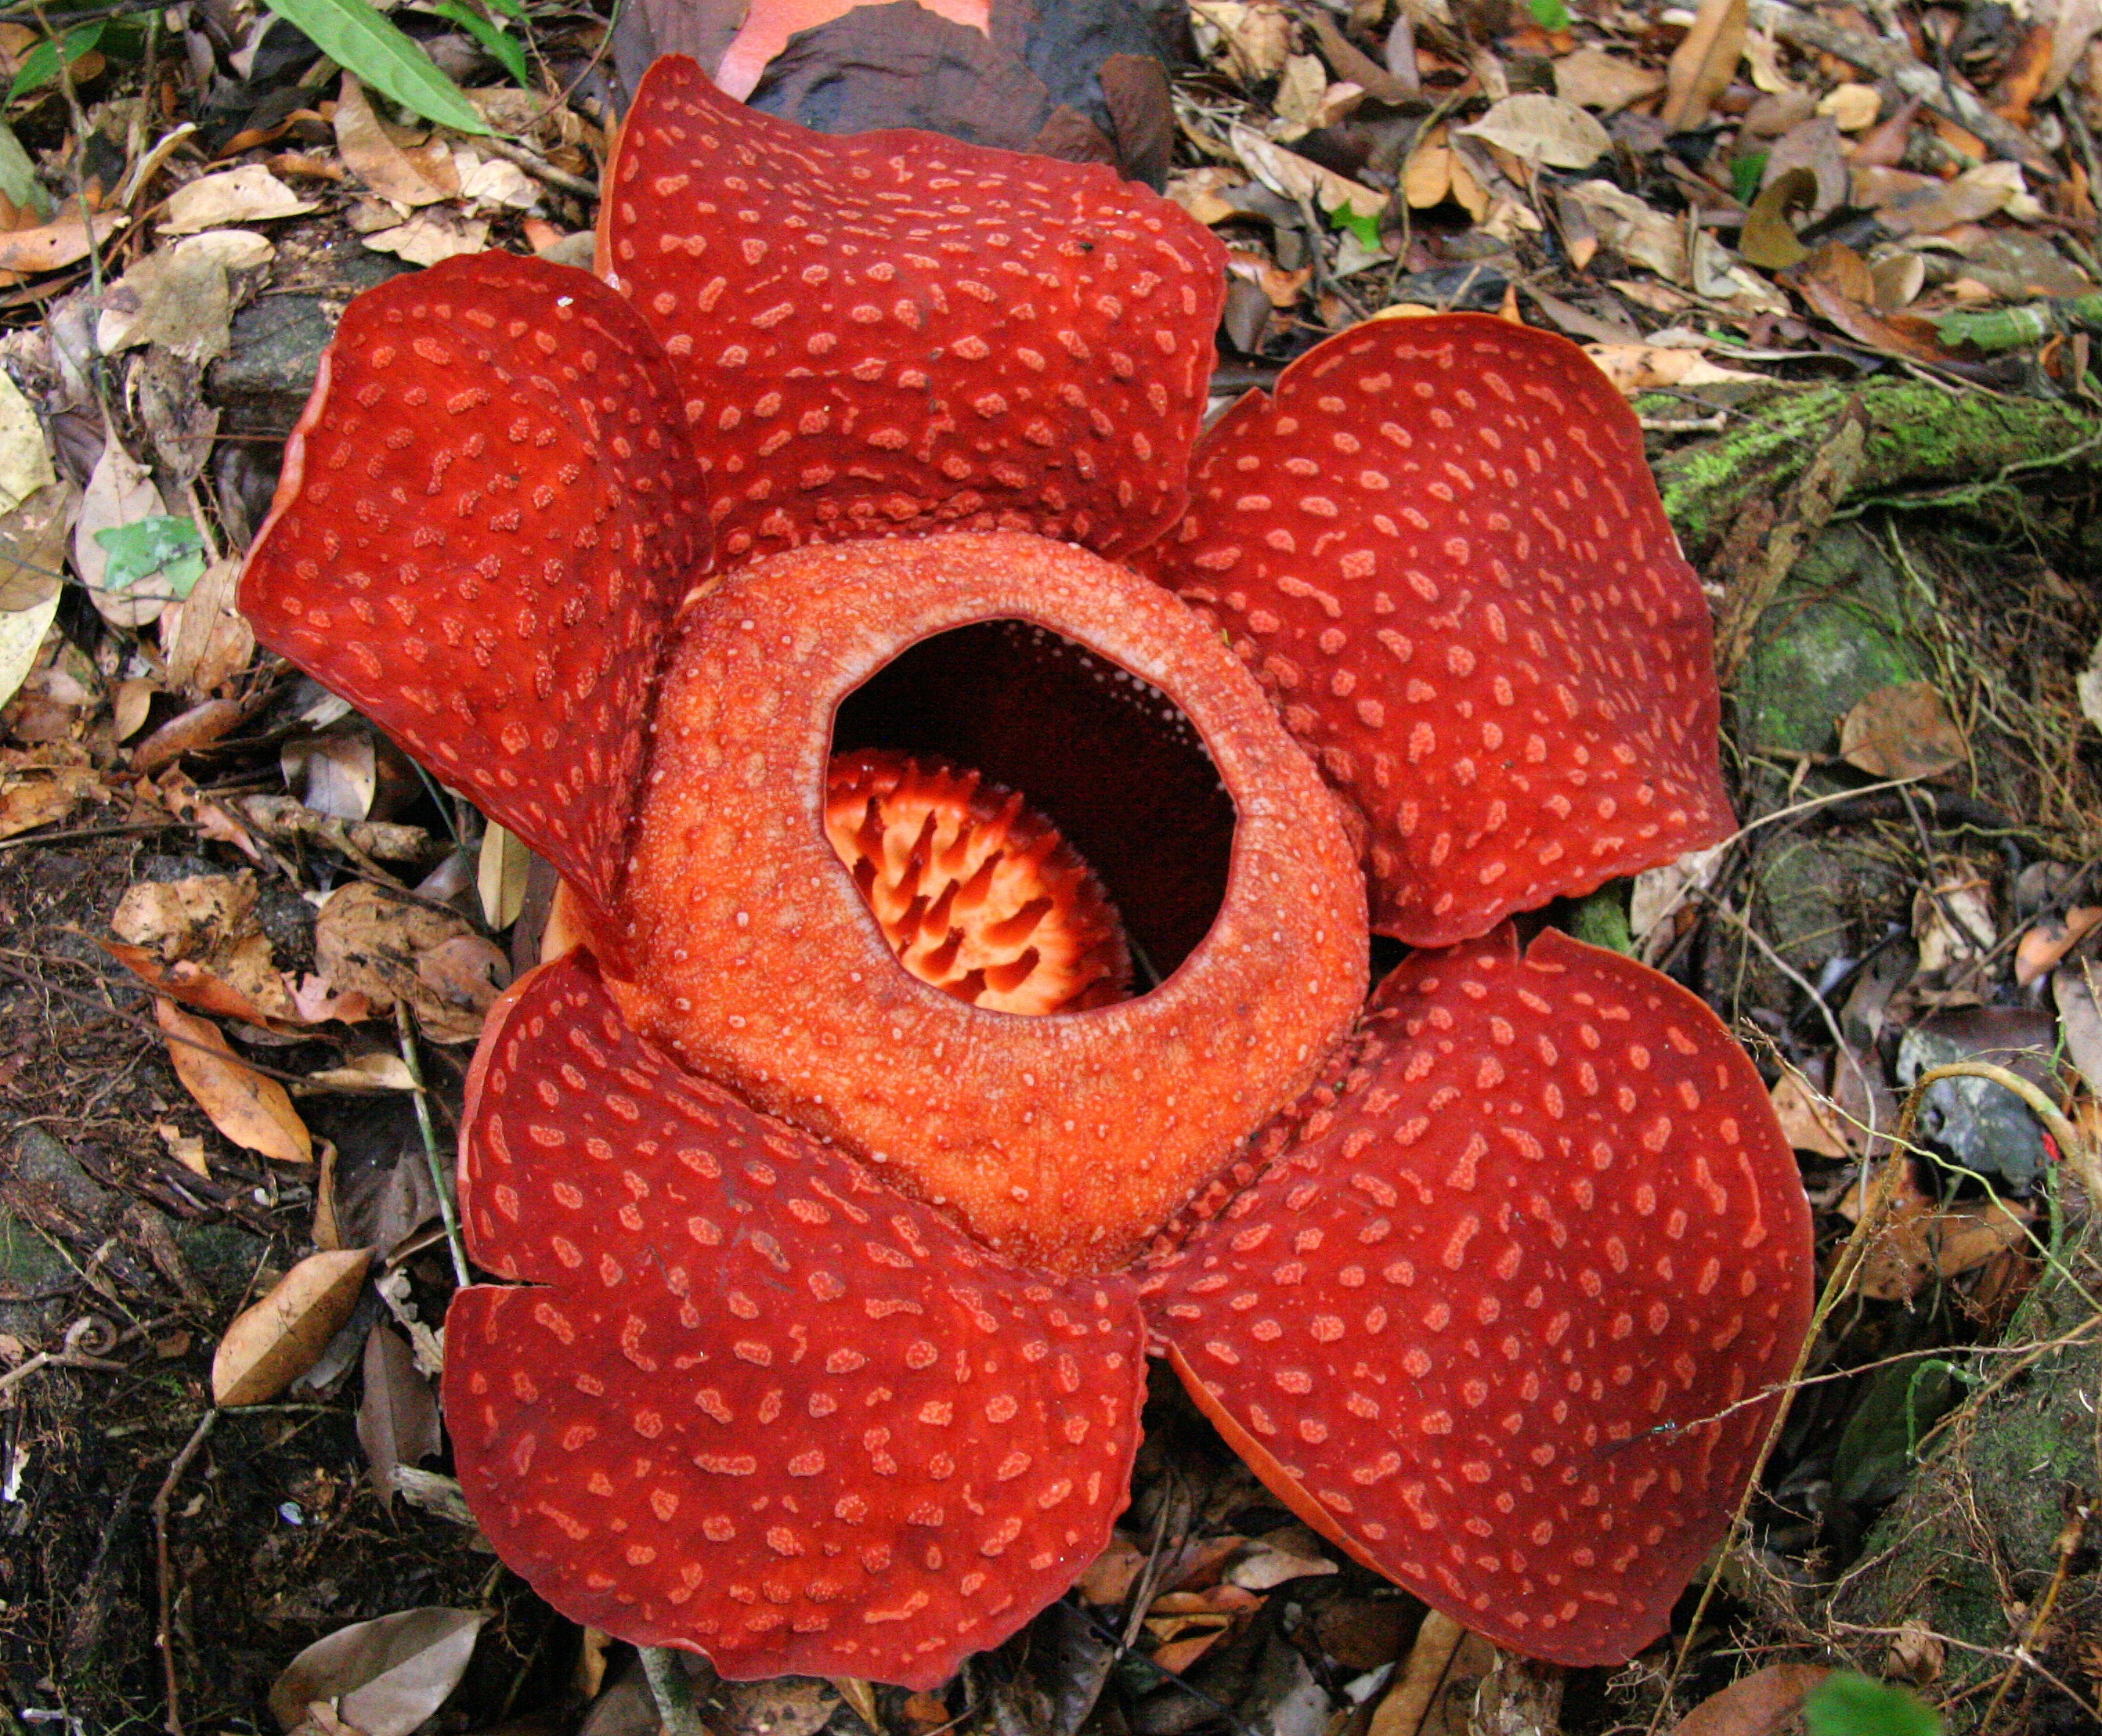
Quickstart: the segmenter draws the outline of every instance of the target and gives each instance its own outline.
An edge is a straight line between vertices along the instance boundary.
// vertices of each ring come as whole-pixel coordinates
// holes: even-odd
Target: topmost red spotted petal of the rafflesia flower
[[[1181,513],[1223,250],[1101,166],[834,139],[656,61],[599,275],[679,370],[717,551],[965,525],[1122,555]]]

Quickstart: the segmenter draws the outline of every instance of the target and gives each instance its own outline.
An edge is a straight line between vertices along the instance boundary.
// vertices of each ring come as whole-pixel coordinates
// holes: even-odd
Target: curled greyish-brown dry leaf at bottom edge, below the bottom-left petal
[[[313,1702],[364,1736],[410,1736],[467,1675],[479,1610],[401,1610],[315,1639],[271,1683],[269,1709],[286,1730]]]

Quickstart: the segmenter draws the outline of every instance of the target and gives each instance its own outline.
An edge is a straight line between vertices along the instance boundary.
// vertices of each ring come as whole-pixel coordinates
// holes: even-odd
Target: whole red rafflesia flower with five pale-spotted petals
[[[1621,399],[1375,322],[1200,435],[1175,206],[689,61],[605,189],[595,275],[353,303],[242,593],[563,881],[460,1141],[496,1551],[929,1688],[1101,1549],[1154,1351],[1467,1627],[1652,1639],[1810,1246],[1715,1017],[1507,923],[1730,828]]]

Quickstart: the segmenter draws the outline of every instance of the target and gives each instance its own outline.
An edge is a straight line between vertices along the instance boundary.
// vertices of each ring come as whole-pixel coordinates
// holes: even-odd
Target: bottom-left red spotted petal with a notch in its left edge
[[[528,1280],[446,1320],[460,1486],[574,1620],[738,1679],[935,1688],[1108,1543],[1131,1280],[988,1259],[647,1049],[589,954],[492,1013],[460,1206],[475,1259]]]

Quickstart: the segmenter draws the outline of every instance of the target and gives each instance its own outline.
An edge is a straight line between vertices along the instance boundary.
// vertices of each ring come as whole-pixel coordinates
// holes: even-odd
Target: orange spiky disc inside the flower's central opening
[[[914,977],[992,1013],[1078,1013],[1131,992],[1101,883],[1013,790],[946,761],[837,755],[824,832]]]

